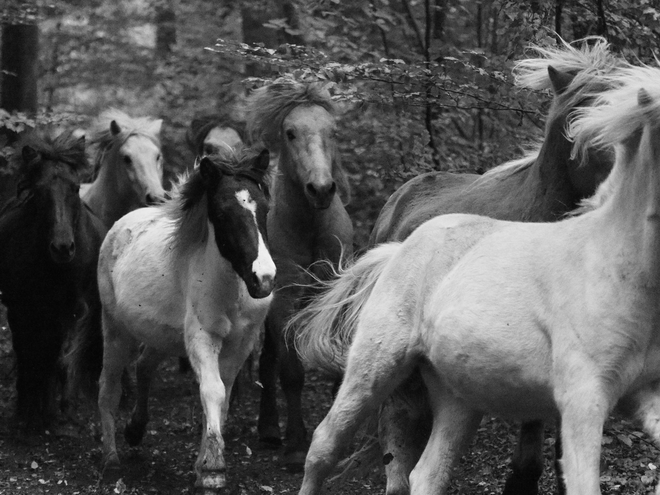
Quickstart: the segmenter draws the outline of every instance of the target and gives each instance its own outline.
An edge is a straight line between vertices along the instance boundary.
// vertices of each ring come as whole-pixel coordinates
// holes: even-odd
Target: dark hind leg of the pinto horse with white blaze
[[[142,441],[144,431],[149,421],[149,388],[153,381],[154,372],[162,362],[163,354],[152,347],[145,347],[137,360],[137,400],[131,419],[124,430],[124,438],[131,447]]]

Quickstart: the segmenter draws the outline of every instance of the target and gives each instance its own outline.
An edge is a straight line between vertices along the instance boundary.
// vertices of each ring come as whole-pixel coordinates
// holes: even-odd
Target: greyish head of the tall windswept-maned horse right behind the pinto
[[[328,208],[337,192],[335,132],[334,116],[319,105],[297,106],[282,121],[280,167],[294,168],[289,174],[317,209]]]

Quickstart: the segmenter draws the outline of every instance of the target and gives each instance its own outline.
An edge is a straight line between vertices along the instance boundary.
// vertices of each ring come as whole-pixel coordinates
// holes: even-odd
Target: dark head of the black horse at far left
[[[35,227],[46,235],[47,250],[58,264],[76,255],[76,230],[81,214],[79,170],[86,165],[85,139],[75,141],[65,152],[39,147],[21,148],[22,167],[17,195],[31,211]]]

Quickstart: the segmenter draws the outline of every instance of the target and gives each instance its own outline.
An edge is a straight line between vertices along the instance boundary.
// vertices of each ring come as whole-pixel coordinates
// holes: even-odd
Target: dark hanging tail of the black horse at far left
[[[76,320],[73,335],[64,354],[69,392],[82,392],[95,397],[103,366],[103,332],[101,329],[101,301],[98,294],[85,306]]]

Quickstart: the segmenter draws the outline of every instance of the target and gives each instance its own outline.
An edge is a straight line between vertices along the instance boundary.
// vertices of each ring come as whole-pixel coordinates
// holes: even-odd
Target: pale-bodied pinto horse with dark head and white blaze
[[[205,157],[166,204],[135,210],[110,230],[99,257],[103,371],[99,409],[103,468],[116,469],[120,377],[138,351],[137,402],[125,431],[144,434],[157,365],[187,356],[199,381],[204,429],[196,486],[225,485],[222,426],[241,365],[258,340],[275,264],[264,242],[268,152]]]

